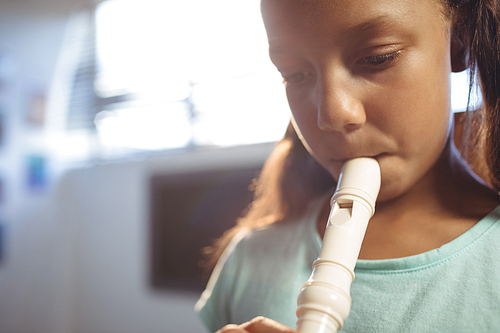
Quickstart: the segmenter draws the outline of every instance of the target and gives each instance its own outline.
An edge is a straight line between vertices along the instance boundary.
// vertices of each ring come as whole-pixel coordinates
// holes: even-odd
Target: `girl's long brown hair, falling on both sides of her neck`
[[[500,11],[498,0],[446,0],[459,32],[468,41],[470,94],[477,72],[483,95],[480,110],[469,112],[459,145],[465,159],[491,186],[500,188]],[[333,178],[307,152],[293,127],[254,182],[254,201],[245,216],[213,247],[206,249],[209,268],[240,230],[256,229],[302,215],[307,204],[335,186]]]

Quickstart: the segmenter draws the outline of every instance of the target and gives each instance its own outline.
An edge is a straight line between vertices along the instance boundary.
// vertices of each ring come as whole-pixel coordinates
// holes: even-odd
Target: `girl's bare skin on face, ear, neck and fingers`
[[[436,0],[262,1],[271,60],[309,153],[335,179],[346,159],[380,163],[362,259],[435,249],[499,204],[452,140],[449,75],[465,68],[466,50],[444,12]],[[326,201],[321,235],[329,210]],[[221,332],[293,331],[257,322]]]

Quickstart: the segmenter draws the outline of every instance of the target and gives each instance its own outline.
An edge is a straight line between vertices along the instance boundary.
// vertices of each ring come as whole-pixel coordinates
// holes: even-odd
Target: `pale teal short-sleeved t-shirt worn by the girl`
[[[321,248],[319,208],[233,239],[196,305],[209,331],[259,315],[295,328]],[[500,332],[500,207],[432,251],[358,260],[355,275],[341,332]]]

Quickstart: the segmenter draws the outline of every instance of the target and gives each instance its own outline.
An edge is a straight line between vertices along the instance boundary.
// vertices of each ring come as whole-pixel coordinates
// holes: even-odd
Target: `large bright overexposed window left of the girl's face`
[[[108,0],[96,12],[107,147],[168,149],[279,140],[290,114],[267,55],[259,0]]]

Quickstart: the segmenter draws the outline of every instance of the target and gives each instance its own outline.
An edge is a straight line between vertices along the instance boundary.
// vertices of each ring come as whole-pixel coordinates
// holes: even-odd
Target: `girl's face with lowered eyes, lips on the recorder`
[[[346,159],[375,157],[388,200],[432,168],[451,126],[439,1],[262,0],[262,14],[295,129],[335,179]]]

